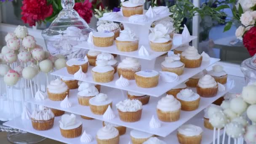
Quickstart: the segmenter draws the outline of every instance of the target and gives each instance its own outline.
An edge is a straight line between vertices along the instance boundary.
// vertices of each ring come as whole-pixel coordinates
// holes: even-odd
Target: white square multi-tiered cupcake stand
[[[120,17],[118,19],[111,20],[111,21],[122,22],[124,24],[124,27],[129,27],[130,29],[135,31],[137,33],[137,35],[139,36],[139,40],[140,40],[139,48],[141,45],[144,45],[144,47],[147,49],[147,51],[149,51],[149,56],[139,56],[138,51],[121,52],[121,51],[117,50],[115,45],[112,45],[107,48],[99,48],[99,47],[93,46],[91,43],[85,42],[80,45],[77,45],[77,48],[84,48],[84,49],[88,49],[88,50],[93,49],[96,51],[113,53],[113,54],[119,55],[121,59],[123,58],[123,56],[139,58],[139,59],[141,59],[142,70],[155,69],[157,71],[161,71],[160,62],[162,62],[161,59],[163,59],[163,57],[165,57],[162,55],[167,52],[152,51],[149,47],[147,37],[148,37],[149,27],[152,24],[152,22],[159,20],[159,19],[163,19],[167,16],[168,15],[163,15],[163,16],[157,17],[155,19],[149,19],[149,21],[147,21],[147,22],[136,23],[136,24],[130,23],[128,21],[128,18],[125,18],[125,17]],[[104,18],[101,18],[101,19],[109,20],[109,19],[104,19]],[[180,37],[180,35],[175,35],[174,40],[175,40],[175,38],[181,38],[181,37]],[[188,43],[189,41],[191,41],[195,38],[196,37],[194,37],[194,36],[190,36],[189,40],[186,40],[186,41],[182,40],[182,43],[179,43],[179,45]],[[175,43],[174,43],[172,49],[178,47],[179,45],[175,45]],[[113,101],[113,111],[114,111],[116,117],[112,120],[105,120],[102,117],[102,115],[94,115],[91,112],[89,107],[79,105],[78,101],[77,101],[77,90],[70,91],[69,101],[72,103],[72,107],[70,107],[70,108],[61,108],[60,107],[61,101],[51,101],[49,99],[46,99],[44,101],[37,101],[34,98],[32,98],[32,99],[29,99],[27,102],[29,102],[31,104],[39,104],[39,105],[43,105],[45,107],[60,109],[60,110],[66,111],[66,112],[77,114],[77,119],[81,120],[83,122],[83,131],[86,130],[87,133],[91,134],[94,137],[91,144],[96,144],[96,139],[95,139],[96,132],[99,130],[99,128],[102,127],[102,121],[107,121],[107,122],[117,124],[117,125],[123,125],[128,128],[125,135],[120,136],[120,144],[128,144],[128,142],[131,141],[131,139],[130,139],[131,129],[136,129],[139,131],[144,131],[147,133],[152,133],[157,136],[160,136],[159,139],[166,141],[168,144],[178,144],[179,142],[176,137],[176,129],[185,123],[194,124],[194,125],[198,125],[198,126],[202,127],[203,128],[202,144],[209,144],[213,141],[213,131],[204,128],[204,126],[203,126],[203,111],[202,110],[205,109],[206,107],[208,107],[213,101],[215,101],[216,99],[219,99],[225,93],[230,91],[234,87],[233,80],[228,80],[227,84],[224,85],[226,87],[225,91],[218,92],[215,97],[212,97],[212,98],[201,97],[200,105],[199,105],[198,109],[196,109],[194,111],[190,111],[190,112],[181,111],[180,119],[176,122],[171,122],[171,123],[161,122],[162,126],[160,128],[150,128],[149,121],[151,120],[151,117],[153,115],[155,117],[157,117],[156,105],[157,105],[157,101],[160,99],[161,96],[164,96],[165,93],[168,90],[170,90],[171,88],[174,88],[176,85],[183,83],[185,80],[189,79],[189,77],[192,77],[193,75],[197,74],[198,72],[201,72],[203,69],[206,69],[207,67],[216,63],[217,61],[219,61],[219,59],[210,58],[209,61],[203,61],[202,65],[198,68],[191,68],[191,69],[185,68],[184,74],[179,76],[179,80],[172,82],[172,83],[164,82],[160,78],[159,84],[155,88],[140,88],[136,85],[135,80],[130,80],[130,84],[127,87],[118,87],[117,85],[115,85],[115,81],[119,78],[117,73],[115,74],[114,80],[112,82],[96,83],[93,81],[93,78],[92,78],[92,74],[91,74],[92,67],[89,66],[89,69],[87,72],[87,77],[85,79],[77,79],[77,80],[101,85],[101,93],[106,93],[108,95],[108,97],[110,99],[112,99],[112,101]],[[74,78],[73,75],[68,74],[66,68],[57,70],[57,71],[51,73],[51,75]],[[192,88],[192,90],[196,92],[195,88]],[[143,93],[143,94],[151,96],[149,104],[146,104],[143,106],[141,120],[139,120],[138,122],[126,123],[126,122],[121,121],[120,118],[118,117],[118,112],[115,107],[115,104],[117,104],[117,102],[127,98],[126,91]],[[80,118],[79,115],[92,117],[95,120],[84,120],[84,119]],[[67,138],[64,138],[61,136],[61,133],[59,130],[60,118],[61,117],[55,117],[55,122],[54,122],[53,128],[51,128],[50,130],[47,130],[47,131],[36,131],[35,129],[32,128],[30,120],[22,120],[21,117],[18,117],[14,120],[8,121],[7,123],[4,123],[4,125],[7,125],[7,126],[10,126],[13,128],[18,128],[23,131],[28,131],[30,133],[35,133],[37,135],[45,136],[50,139],[54,139],[57,141],[68,143],[68,144],[82,144],[80,142],[80,137],[77,137],[74,139],[67,139]]]

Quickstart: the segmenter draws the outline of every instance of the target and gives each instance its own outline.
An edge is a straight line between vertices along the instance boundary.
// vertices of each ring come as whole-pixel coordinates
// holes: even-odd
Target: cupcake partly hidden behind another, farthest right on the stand
[[[211,75],[216,82],[221,84],[227,83],[227,72],[223,70],[223,67],[219,64],[213,66],[213,69],[208,71],[208,75]]]

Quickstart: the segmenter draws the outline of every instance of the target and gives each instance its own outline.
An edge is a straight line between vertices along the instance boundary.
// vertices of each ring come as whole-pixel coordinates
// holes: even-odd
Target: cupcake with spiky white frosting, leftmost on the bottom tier
[[[45,131],[51,129],[54,123],[54,114],[51,109],[43,109],[37,111],[35,109],[31,114],[32,126],[37,131]]]

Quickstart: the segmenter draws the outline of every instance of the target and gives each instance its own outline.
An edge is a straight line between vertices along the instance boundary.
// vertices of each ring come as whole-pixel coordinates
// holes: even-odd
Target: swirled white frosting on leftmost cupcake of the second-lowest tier
[[[64,93],[68,90],[66,83],[59,79],[52,80],[47,88],[50,93]]]

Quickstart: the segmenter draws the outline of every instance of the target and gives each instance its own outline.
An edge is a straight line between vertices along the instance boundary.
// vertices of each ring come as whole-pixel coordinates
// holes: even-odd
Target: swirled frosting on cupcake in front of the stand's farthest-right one
[[[212,88],[215,87],[217,83],[211,75],[205,75],[199,79],[198,85],[201,88]]]

